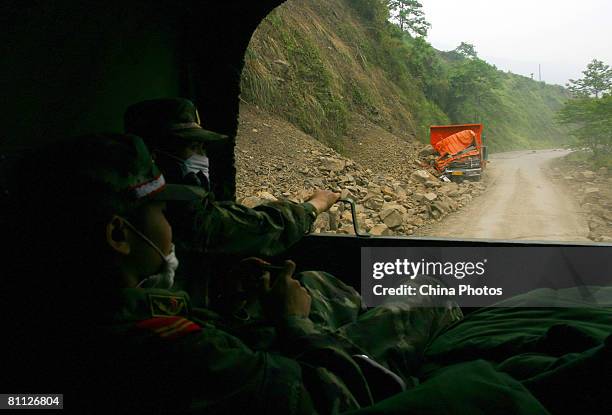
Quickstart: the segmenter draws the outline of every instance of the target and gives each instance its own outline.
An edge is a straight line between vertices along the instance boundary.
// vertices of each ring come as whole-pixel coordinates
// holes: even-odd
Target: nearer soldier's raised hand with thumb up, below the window
[[[293,279],[295,262],[285,261],[274,283],[270,284],[270,274],[263,276],[263,305],[267,317],[274,320],[282,317],[308,317],[310,313],[310,294]]]

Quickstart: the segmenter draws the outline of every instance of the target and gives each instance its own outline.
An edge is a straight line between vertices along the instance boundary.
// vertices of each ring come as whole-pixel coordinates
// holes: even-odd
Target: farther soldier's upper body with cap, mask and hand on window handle
[[[270,257],[284,252],[309,233],[317,215],[339,197],[319,190],[305,203],[267,202],[253,209],[234,202],[218,202],[210,192],[206,147],[227,136],[203,129],[190,100],[142,101],[126,110],[124,121],[126,132],[147,142],[170,183],[194,185],[206,192],[201,202],[168,206],[175,243],[183,260],[182,275],[187,277],[178,280],[175,288],[187,290],[195,304],[215,306],[220,286],[227,285],[218,272],[211,271],[221,268],[216,263],[234,262],[228,255]],[[217,278],[210,278],[213,274]]]

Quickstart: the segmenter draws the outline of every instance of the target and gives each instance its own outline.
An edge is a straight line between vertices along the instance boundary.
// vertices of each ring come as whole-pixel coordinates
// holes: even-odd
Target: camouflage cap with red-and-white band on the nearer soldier
[[[92,183],[110,187],[132,200],[197,200],[197,187],[167,184],[147,146],[134,135],[96,135],[80,141],[84,161],[81,174]],[[79,173],[79,172],[75,172]]]

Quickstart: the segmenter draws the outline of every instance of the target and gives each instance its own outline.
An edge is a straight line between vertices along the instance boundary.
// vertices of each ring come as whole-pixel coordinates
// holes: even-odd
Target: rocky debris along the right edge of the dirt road
[[[556,161],[549,171],[553,181],[564,182],[571,189],[586,215],[588,238],[612,242],[612,174],[606,167],[596,171],[586,162],[567,158]]]

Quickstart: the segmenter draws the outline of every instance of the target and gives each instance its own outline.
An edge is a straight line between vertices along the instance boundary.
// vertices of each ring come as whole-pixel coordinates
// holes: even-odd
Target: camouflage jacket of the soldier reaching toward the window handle
[[[194,185],[163,157],[156,161],[169,183]],[[203,189],[201,203],[173,202],[168,206],[175,242],[185,251],[237,256],[274,256],[310,231],[316,209],[310,203],[269,202],[248,208],[216,201]]]

